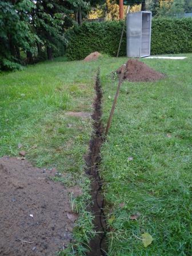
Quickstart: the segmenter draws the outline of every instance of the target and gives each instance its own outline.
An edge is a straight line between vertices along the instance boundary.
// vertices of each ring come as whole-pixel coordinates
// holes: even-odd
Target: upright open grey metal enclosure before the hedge
[[[151,11],[139,11],[127,15],[127,57],[150,56]]]

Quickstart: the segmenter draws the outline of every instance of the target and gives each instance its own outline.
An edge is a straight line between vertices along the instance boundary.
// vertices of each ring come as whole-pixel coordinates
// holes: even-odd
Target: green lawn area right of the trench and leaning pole
[[[143,59],[166,78],[122,84],[102,147],[109,256],[192,255],[192,56],[187,57]],[[104,122],[115,94],[110,79],[115,68],[101,70]],[[154,239],[147,248],[143,233]]]

